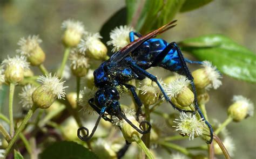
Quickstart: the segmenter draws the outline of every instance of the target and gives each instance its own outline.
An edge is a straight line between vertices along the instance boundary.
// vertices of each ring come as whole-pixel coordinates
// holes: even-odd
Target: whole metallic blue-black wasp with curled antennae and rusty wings
[[[168,44],[163,39],[153,39],[153,37],[155,37],[156,35],[163,33],[164,31],[176,26],[172,25],[175,22],[176,20],[144,36],[136,32],[130,32],[131,43],[125,46],[124,48],[118,50],[118,52],[114,53],[109,60],[104,61],[102,64],[100,64],[99,68],[94,71],[93,75],[95,77],[95,86],[97,86],[99,90],[96,92],[95,97],[89,100],[89,104],[99,114],[99,117],[90,135],[89,130],[87,128],[80,127],[78,129],[77,135],[79,139],[83,141],[90,140],[92,138],[92,135],[95,133],[101,118],[103,118],[106,121],[113,122],[112,119],[106,116],[106,113],[109,115],[114,115],[119,119],[124,119],[127,123],[129,123],[134,129],[136,129],[141,134],[150,132],[151,124],[149,121],[140,122],[138,128],[135,125],[133,125],[129,119],[125,117],[125,114],[120,109],[120,97],[116,89],[116,86],[124,85],[127,89],[131,91],[133,98],[138,105],[138,110],[136,112],[138,120],[139,114],[141,113],[141,107],[143,104],[135,91],[136,88],[133,85],[125,84],[131,79],[142,80],[145,77],[150,78],[159,86],[166,101],[169,102],[175,109],[183,111],[176,107],[171,102],[169,97],[167,97],[163,87],[158,82],[157,77],[153,76],[152,74],[146,71],[146,69],[149,69],[151,67],[159,66],[170,71],[175,71],[178,74],[185,75],[188,79],[190,79],[190,81],[193,81],[193,77],[186,65],[186,62],[198,64],[200,64],[201,62],[184,59],[183,54],[181,53],[179,47],[175,42]],[[137,36],[138,39],[135,40],[134,36]],[[198,109],[196,89],[194,87],[193,82],[191,84],[195,95],[194,101],[196,111],[200,114],[201,118],[205,120],[204,115]],[[211,143],[213,139],[212,127],[206,120],[205,123],[209,127],[211,132],[211,139],[207,141],[207,143]],[[148,128],[145,131],[142,128],[143,124],[148,125]],[[86,131],[85,136],[80,135],[80,131],[82,130]]]

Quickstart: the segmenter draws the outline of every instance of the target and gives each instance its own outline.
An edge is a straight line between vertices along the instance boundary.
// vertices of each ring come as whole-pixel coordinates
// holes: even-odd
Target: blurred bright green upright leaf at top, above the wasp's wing
[[[130,23],[132,18],[138,19],[136,30],[145,34],[171,21],[184,2],[185,0],[147,0],[142,3],[127,0],[128,21]],[[141,13],[137,13],[136,11],[141,10],[140,8],[143,8]]]

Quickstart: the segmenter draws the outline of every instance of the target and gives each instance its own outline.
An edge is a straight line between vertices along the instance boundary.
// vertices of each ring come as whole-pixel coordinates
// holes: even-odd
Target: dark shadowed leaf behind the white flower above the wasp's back
[[[102,42],[104,44],[106,44],[106,42],[110,40],[109,34],[111,30],[113,30],[117,26],[126,25],[126,16],[126,8],[122,8],[118,10],[116,13],[114,13],[114,15],[105,22],[105,24],[102,26],[99,32],[100,35],[102,35],[103,37]],[[109,46],[107,46],[107,49],[111,50]]]

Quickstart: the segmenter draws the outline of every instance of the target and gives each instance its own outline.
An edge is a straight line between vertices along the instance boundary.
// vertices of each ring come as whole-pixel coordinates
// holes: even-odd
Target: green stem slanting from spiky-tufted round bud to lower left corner
[[[25,118],[23,119],[23,121],[21,123],[21,126],[18,127],[14,137],[11,139],[11,141],[8,144],[8,147],[5,150],[5,154],[4,154],[5,157],[9,154],[12,146],[14,145],[16,140],[18,139],[19,134],[23,131],[23,129],[25,128],[25,126],[28,123],[29,119],[32,117],[33,112],[35,112],[36,109],[37,109],[37,107],[35,105],[33,105],[31,107],[31,109],[29,110],[28,114],[26,114]]]

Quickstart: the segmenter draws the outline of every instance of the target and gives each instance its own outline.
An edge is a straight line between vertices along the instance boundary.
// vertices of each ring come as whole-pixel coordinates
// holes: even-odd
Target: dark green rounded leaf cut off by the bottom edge
[[[79,158],[98,158],[89,149],[83,147],[82,145],[71,142],[71,141],[60,141],[55,142],[51,146],[47,147],[43,153],[40,154],[42,159],[53,159],[53,158],[62,158],[62,159],[79,159]]]

